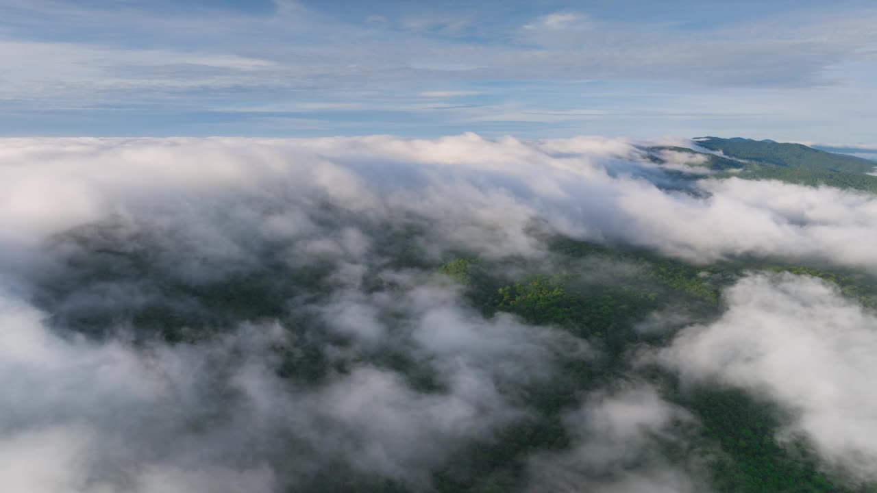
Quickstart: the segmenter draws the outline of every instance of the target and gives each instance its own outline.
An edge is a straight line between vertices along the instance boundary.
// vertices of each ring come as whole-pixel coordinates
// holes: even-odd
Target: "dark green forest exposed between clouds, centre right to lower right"
[[[700,267],[633,248],[604,247],[571,239],[554,239],[552,245],[553,251],[566,259],[564,264],[567,266],[575,266],[577,259],[598,257],[604,265],[633,264],[639,273],[632,279],[619,278],[615,284],[603,282],[599,289],[588,289],[587,285],[574,282],[577,276],[568,270],[560,275],[529,275],[497,289],[495,303],[498,310],[515,313],[531,324],[566,327],[602,347],[608,356],[584,365],[587,369],[570,368],[569,374],[581,375],[581,380],[576,382],[573,379],[551,389],[549,394],[556,396],[599,389],[619,375],[629,374],[630,360],[624,354],[642,344],[666,344],[672,338],[672,333],[651,339],[638,333],[633,327],[639,319],[667,304],[672,304],[675,310],[686,311],[693,321],[715,318],[723,310],[721,289],[748,272],[762,270],[812,275],[838,285],[845,296],[859,303],[866,306],[877,304],[877,283],[873,278],[838,269],[745,259]],[[463,265],[471,266],[472,263],[453,261],[443,269],[453,272]],[[484,268],[483,263],[481,268]],[[647,375],[650,375],[648,371],[644,376],[655,378]],[[776,434],[788,416],[772,405],[739,389],[701,386],[683,391],[674,375],[662,371],[657,375],[658,382],[663,382],[658,386],[665,389],[665,398],[688,409],[700,423],[699,435],[691,437],[697,448],[694,453],[702,454],[715,490],[743,493],[868,491],[867,485],[845,485],[841,478],[826,475],[802,440],[791,444],[777,442]],[[573,397],[569,399],[561,399],[556,404],[562,409],[563,403],[574,402]],[[543,396],[539,402],[548,403],[550,398]],[[551,422],[551,416],[552,412],[545,414],[543,426]],[[548,429],[550,426],[538,428],[540,433],[553,436]],[[558,432],[561,434],[557,438],[549,438],[546,443],[532,438],[526,445],[510,440],[505,442],[503,453],[497,454],[506,458],[505,454],[510,451],[524,454],[523,451],[533,447],[560,447],[564,438],[562,429]],[[667,445],[663,454],[673,457],[673,447]],[[682,460],[685,454],[677,452],[676,455]],[[451,477],[458,481],[451,481]],[[439,475],[439,479],[445,481],[440,483],[446,485],[447,490],[471,488],[471,482],[459,481],[463,477],[467,475],[460,474],[459,470],[454,474]],[[497,488],[509,487],[509,484]]]

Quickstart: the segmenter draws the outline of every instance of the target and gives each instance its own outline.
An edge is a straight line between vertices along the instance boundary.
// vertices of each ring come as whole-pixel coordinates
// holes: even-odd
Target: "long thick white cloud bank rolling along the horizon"
[[[668,192],[652,182],[672,179],[627,139],[7,139],[0,177],[0,241],[13,249],[147,211],[186,218],[197,226],[179,231],[223,245],[232,232],[196,218],[246,196],[299,216],[322,200],[374,219],[405,211],[429,218],[442,245],[488,256],[534,253],[528,228],[545,221],[693,261],[783,256],[877,270],[873,195],[737,178],[700,182],[705,196]]]

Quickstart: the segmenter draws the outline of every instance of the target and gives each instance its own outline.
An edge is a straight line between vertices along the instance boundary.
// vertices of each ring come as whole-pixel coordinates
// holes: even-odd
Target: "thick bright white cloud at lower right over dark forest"
[[[660,360],[687,379],[766,397],[793,418],[780,439],[803,435],[836,470],[877,479],[877,314],[806,276],[752,275],[726,293],[715,323],[685,329]]]

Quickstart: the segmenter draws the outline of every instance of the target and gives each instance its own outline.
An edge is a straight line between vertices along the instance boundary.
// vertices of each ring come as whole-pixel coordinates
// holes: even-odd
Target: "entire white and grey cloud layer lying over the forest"
[[[877,274],[877,196],[684,175],[699,163],[655,164],[644,144],[0,140],[0,477],[33,493],[273,492],[339,468],[430,489],[462,447],[531,417],[527,389],[562,377],[559,361],[600,354],[557,328],[486,318],[418,261],[538,262],[559,233],[701,264]],[[318,281],[300,281],[315,266]],[[241,279],[261,280],[276,317],[192,295]],[[750,275],[724,303],[645,359],[770,399],[795,417],[783,436],[877,479],[877,315],[794,275]],[[169,344],[132,315],[159,309],[184,314],[175,329],[217,330]],[[282,354],[320,372],[284,378]],[[697,424],[644,382],[565,416],[572,447],[534,454],[528,489],[706,488],[696,464],[648,452]]]

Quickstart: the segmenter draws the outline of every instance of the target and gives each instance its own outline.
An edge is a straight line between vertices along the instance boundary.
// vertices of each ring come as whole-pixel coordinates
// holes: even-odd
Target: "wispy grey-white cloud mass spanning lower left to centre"
[[[528,403],[501,389],[543,384],[560,355],[587,357],[588,349],[510,317],[484,320],[453,290],[413,281],[410,297],[373,294],[355,314],[360,321],[350,311],[362,304],[326,305],[340,312],[330,318],[335,327],[362,324],[352,335],[369,346],[325,342],[321,353],[346,359],[349,371],[295,384],[276,375],[275,348],[299,350],[276,323],[198,344],[138,346],[124,328],[111,327],[118,335],[103,341],[61,336],[46,313],[4,296],[4,481],[36,493],[268,493],[343,463],[423,489],[457,447],[529,415]],[[401,325],[410,334],[379,340],[363,328],[387,309],[410,320]],[[403,373],[364,361],[375,349],[403,350],[437,371],[443,389],[414,389]]]

